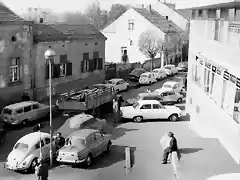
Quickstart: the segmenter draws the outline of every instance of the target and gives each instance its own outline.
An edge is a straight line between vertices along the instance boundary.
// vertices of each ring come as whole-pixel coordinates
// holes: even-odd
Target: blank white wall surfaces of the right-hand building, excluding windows
[[[204,32],[204,23],[206,21],[193,20],[190,27],[190,45],[189,45],[189,71],[188,71],[188,89],[187,89],[187,107],[186,111],[190,114],[191,124],[203,135],[217,137],[232,157],[240,162],[240,125],[223,110],[221,106],[204,93],[203,87],[196,84],[192,79],[192,64],[196,63],[195,56],[199,53],[204,55],[204,61],[225,68],[229,73],[240,77],[240,49],[234,47],[231,43],[214,41],[209,33]],[[211,26],[210,26],[211,27]],[[210,28],[211,29],[211,28]],[[224,31],[224,36],[228,35]],[[210,34],[211,35],[211,34]],[[202,78],[204,73],[202,71]],[[221,91],[221,88],[219,89]],[[234,103],[234,102],[232,102]],[[197,106],[199,112],[197,112]],[[207,132],[207,128],[210,132]]]

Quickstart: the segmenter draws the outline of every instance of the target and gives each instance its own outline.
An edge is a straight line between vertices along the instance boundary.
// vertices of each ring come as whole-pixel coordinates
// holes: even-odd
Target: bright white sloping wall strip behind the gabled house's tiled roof
[[[157,11],[162,16],[168,16],[168,19],[173,21],[178,27],[180,27],[183,30],[186,30],[188,20],[185,19],[183,16],[178,14],[173,9],[169,8],[165,4],[161,2],[157,2],[152,5],[152,8]]]

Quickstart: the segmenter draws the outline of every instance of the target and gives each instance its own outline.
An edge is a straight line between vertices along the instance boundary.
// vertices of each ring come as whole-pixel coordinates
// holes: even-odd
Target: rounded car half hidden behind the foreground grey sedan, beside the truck
[[[56,131],[60,132],[63,137],[81,129],[97,129],[100,132],[105,131],[105,119],[98,119],[90,114],[78,114],[66,120],[66,122]]]

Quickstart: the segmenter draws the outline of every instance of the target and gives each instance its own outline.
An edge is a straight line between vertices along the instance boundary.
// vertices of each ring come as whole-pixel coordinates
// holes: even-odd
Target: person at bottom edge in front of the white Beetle
[[[35,174],[37,175],[38,180],[48,180],[48,165],[43,162],[43,159],[41,157],[38,158]]]

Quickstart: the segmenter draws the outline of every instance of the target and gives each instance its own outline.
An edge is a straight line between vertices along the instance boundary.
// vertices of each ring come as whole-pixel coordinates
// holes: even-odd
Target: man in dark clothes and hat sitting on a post
[[[164,150],[162,164],[167,164],[168,155],[170,153],[178,151],[177,140],[174,137],[174,134],[169,132],[168,136],[170,137],[170,142],[169,146]]]

